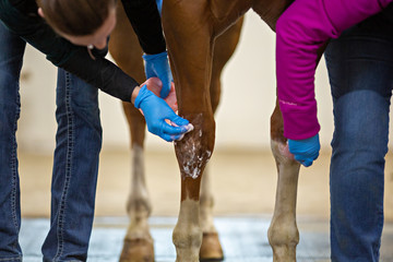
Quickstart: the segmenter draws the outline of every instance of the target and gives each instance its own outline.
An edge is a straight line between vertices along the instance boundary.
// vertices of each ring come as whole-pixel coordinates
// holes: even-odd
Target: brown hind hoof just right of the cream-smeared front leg
[[[200,250],[201,262],[223,261],[224,253],[217,233],[203,233]]]

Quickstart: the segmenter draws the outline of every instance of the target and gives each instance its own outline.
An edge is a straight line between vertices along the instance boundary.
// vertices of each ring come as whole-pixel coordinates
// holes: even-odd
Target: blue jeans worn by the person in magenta
[[[331,40],[325,51],[335,126],[330,170],[333,262],[380,257],[393,88],[391,17],[392,4]]]

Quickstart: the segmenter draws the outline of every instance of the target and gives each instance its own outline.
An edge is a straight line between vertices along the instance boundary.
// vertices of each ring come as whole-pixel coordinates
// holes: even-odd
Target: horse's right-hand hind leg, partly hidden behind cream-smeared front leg
[[[222,71],[236,49],[240,37],[241,26],[242,19],[230,26],[215,40],[210,88],[213,112],[216,111],[219,103]],[[204,170],[201,184],[200,223],[203,231],[203,238],[200,250],[200,261],[219,261],[224,259],[224,254],[217,230],[215,229],[213,223],[214,199],[209,169],[207,165]]]

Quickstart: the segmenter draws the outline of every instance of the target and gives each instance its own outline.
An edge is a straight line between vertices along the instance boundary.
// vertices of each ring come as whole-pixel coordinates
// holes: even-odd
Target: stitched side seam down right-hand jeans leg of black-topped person
[[[63,239],[63,230],[64,230],[64,210],[68,190],[71,180],[71,169],[72,169],[72,154],[73,154],[73,145],[74,145],[74,120],[73,120],[73,111],[71,108],[71,76],[69,72],[64,72],[66,74],[66,116],[67,116],[67,126],[68,126],[68,144],[67,144],[67,155],[66,155],[66,178],[64,178],[64,188],[61,194],[61,200],[59,204],[59,221],[58,221],[58,251],[53,258],[53,261],[60,261],[60,257],[63,253],[64,248],[64,239]]]

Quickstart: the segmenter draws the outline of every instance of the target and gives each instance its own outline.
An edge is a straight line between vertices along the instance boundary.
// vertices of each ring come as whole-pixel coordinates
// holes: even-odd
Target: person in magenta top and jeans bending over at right
[[[393,88],[391,2],[296,0],[277,23],[284,129],[289,151],[305,166],[312,164],[320,148],[313,97],[317,50],[332,38],[325,61],[335,126],[330,168],[333,262],[380,258]]]

